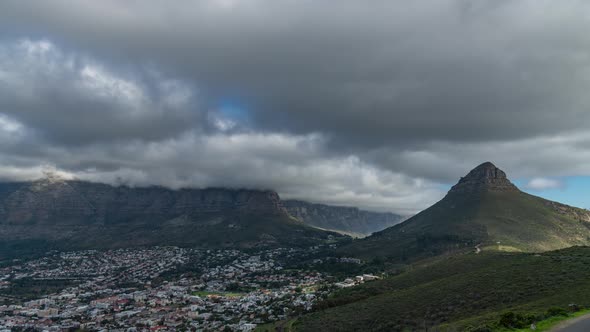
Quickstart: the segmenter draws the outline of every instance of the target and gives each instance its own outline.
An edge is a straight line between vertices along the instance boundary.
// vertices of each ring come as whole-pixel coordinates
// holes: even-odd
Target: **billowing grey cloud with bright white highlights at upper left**
[[[196,93],[153,71],[121,74],[48,40],[0,44],[0,111],[58,144],[161,140],[201,125]]]

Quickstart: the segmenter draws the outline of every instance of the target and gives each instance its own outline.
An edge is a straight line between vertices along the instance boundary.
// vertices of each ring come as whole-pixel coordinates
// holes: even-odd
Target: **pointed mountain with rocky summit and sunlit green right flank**
[[[475,246],[539,252],[588,244],[590,211],[524,193],[486,162],[438,203],[342,251],[404,261]]]

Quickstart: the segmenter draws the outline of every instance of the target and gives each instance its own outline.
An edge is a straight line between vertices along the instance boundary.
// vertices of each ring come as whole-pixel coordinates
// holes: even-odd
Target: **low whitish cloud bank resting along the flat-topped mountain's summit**
[[[53,147],[42,157],[4,153],[0,174],[36,179],[47,169],[37,166],[39,161],[49,160],[64,176],[114,185],[274,189],[283,198],[406,215],[441,198],[435,183],[375,168],[355,156],[325,157],[322,145],[318,135],[193,132],[160,142]]]

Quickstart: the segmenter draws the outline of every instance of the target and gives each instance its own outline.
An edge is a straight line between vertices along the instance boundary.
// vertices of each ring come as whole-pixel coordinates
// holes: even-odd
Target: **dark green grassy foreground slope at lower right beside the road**
[[[497,322],[507,310],[541,314],[590,305],[590,249],[540,255],[464,254],[386,280],[340,291],[303,316],[302,331],[463,330]]]

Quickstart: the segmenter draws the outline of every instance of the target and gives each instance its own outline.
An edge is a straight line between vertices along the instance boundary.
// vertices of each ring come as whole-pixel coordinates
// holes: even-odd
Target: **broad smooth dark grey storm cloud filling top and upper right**
[[[590,119],[583,2],[29,5],[5,3],[4,27],[155,62],[212,104],[240,100],[264,129],[347,146],[516,139]]]

